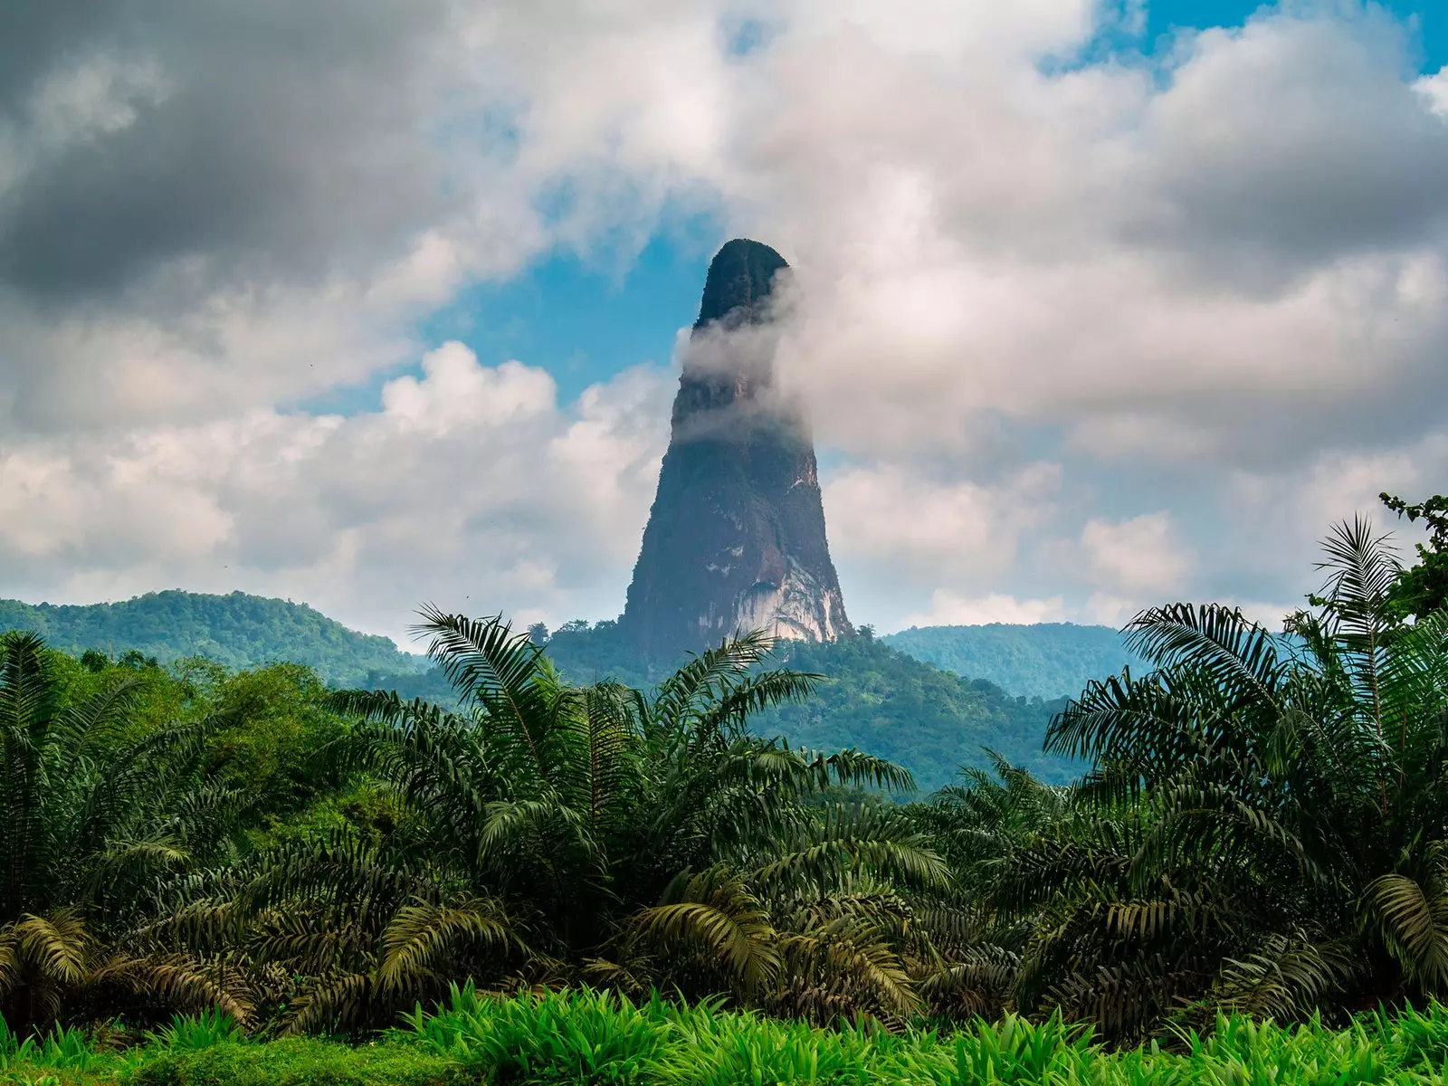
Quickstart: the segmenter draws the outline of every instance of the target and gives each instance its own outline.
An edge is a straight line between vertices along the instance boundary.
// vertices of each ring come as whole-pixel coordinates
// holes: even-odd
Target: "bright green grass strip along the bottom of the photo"
[[[1441,1083],[1448,1008],[1365,1015],[1345,1030],[1222,1015],[1206,1034],[1106,1051],[1058,1018],[1008,1016],[953,1032],[814,1030],[659,998],[566,992],[445,1006],[361,1045],[252,1041],[216,1015],[178,1018],[130,1048],[62,1030],[43,1041],[0,1025],[0,1085],[25,1086],[1352,1086]]]

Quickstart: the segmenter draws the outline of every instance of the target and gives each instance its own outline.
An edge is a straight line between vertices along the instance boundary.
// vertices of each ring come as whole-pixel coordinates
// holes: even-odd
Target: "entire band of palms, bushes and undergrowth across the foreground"
[[[911,783],[891,762],[752,730],[818,685],[759,637],[647,689],[578,685],[504,621],[429,610],[449,710],[4,634],[0,1060],[151,1031],[153,1080],[200,1082],[227,1079],[158,1053],[324,1034],[487,1064],[595,1030],[634,1045],[626,1080],[666,1080],[679,1044],[814,1045],[814,1077],[754,1082],[828,1080],[827,1056],[856,1061],[834,1080],[906,1080],[860,1070],[867,1035],[870,1060],[963,1082],[953,1053],[1024,1037],[1019,1058],[1105,1044],[1119,1069],[1237,1031],[1318,1060],[1313,1082],[1402,1080],[1423,1051],[1441,1073],[1439,1011],[1373,1018],[1448,989],[1448,613],[1423,573],[1448,518],[1403,513],[1429,521],[1418,563],[1339,526],[1289,639],[1218,605],[1141,614],[1150,668],[1092,682],[1047,734],[1079,783],[1001,760],[914,804],[882,796]],[[539,1002],[573,989],[605,995]],[[413,1040],[376,1032],[403,1014]],[[492,1067],[601,1080],[539,1077],[550,1058]]]

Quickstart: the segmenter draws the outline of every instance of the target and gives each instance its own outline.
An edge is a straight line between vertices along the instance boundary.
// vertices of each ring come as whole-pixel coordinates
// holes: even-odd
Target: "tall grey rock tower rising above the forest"
[[[744,239],[710,265],[624,608],[624,630],[650,660],[736,631],[854,633],[825,542],[809,429],[773,385],[767,308],[786,266]]]

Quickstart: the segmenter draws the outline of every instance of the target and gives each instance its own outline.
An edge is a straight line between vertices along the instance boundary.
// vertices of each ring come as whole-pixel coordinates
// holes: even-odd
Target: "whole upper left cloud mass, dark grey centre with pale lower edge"
[[[449,0],[45,4],[0,28],[0,423],[362,384],[550,242]]]

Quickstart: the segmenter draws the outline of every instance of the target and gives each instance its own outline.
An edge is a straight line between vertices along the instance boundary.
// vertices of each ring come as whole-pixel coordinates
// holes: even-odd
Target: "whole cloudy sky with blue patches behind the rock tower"
[[[1264,621],[1448,482],[1434,0],[22,0],[0,597],[623,610],[681,330],[792,265],[856,623]]]

